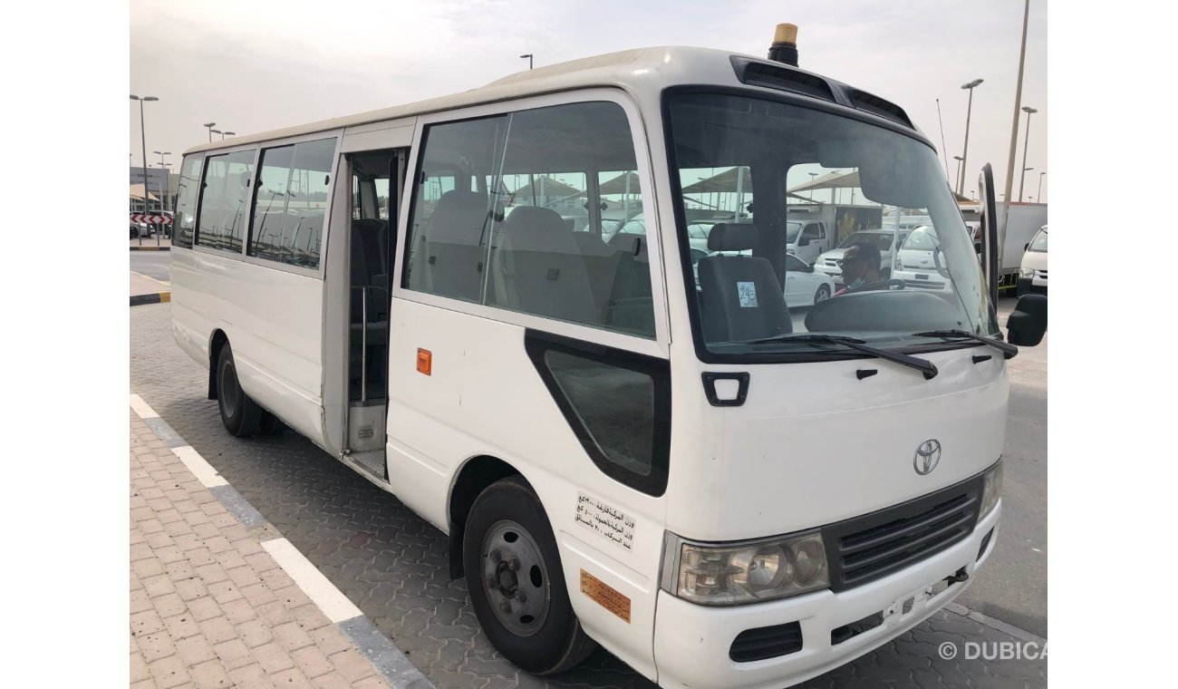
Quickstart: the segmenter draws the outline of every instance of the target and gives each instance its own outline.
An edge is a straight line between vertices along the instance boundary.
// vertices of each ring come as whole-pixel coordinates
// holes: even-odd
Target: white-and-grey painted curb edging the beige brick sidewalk
[[[145,294],[157,297],[159,294]],[[167,292],[163,293],[167,302]],[[134,297],[131,298],[134,305]],[[332,625],[352,642],[373,669],[393,689],[435,689],[434,683],[412,664],[376,624],[357,608],[326,576],[265,521],[253,505],[225,481],[217,469],[200,456],[141,397],[131,393],[131,409],[154,432],[209,492],[246,529],[254,531],[262,548],[270,552],[294,584],[319,608]]]

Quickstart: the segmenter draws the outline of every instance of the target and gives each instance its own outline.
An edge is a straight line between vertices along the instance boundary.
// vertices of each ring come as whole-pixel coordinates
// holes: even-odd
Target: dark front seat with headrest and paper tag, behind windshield
[[[720,223],[708,234],[710,251],[747,251],[756,227]],[[707,256],[700,259],[700,316],[708,342],[747,340],[793,332],[786,296],[767,258]]]

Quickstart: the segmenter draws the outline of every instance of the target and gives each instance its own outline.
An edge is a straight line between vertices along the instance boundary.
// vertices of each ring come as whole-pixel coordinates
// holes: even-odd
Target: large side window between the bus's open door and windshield
[[[654,337],[637,163],[621,106],[581,102],[432,125],[422,148],[405,287]],[[604,206],[602,228],[616,220],[620,232],[576,231],[591,203]]]

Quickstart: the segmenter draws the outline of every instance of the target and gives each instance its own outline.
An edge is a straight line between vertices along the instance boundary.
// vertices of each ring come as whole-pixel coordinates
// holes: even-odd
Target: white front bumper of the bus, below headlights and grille
[[[968,582],[949,584],[944,591],[929,594],[938,582],[959,570],[964,569],[973,578],[994,550],[1001,510],[999,501],[968,537],[951,548],[840,594],[823,590],[749,605],[707,607],[660,591],[655,612],[659,685],[684,689],[789,687],[866,654],[919,624],[965,590]],[[986,541],[986,550],[979,557],[982,541]],[[842,643],[832,643],[832,631],[878,614],[882,614],[878,627]],[[729,657],[733,641],[742,631],[789,622],[801,624],[801,650],[743,663]],[[904,673],[898,670],[896,676]]]

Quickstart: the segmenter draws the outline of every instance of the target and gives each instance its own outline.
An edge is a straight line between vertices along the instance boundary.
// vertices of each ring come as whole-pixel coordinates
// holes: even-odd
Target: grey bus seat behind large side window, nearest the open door
[[[435,294],[478,302],[490,223],[485,196],[462,190],[442,194],[422,234],[422,256],[413,260],[413,272],[424,273],[421,286]]]

